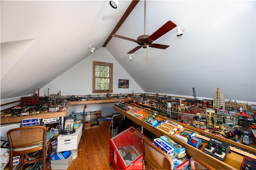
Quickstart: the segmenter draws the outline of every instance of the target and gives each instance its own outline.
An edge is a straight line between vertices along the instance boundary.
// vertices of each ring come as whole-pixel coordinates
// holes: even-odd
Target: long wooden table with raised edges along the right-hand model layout
[[[119,113],[121,113],[122,115],[127,117],[128,119],[137,123],[138,125],[144,127],[145,129],[147,129],[148,131],[150,131],[154,135],[156,135],[158,137],[160,137],[162,135],[166,135],[166,136],[170,137],[176,143],[179,143],[183,147],[186,147],[186,154],[188,154],[188,156],[193,157],[193,158],[197,158],[197,159],[203,161],[204,163],[212,166],[212,168],[214,168],[214,169],[240,169],[244,156],[248,156],[250,158],[256,159],[256,156],[253,155],[253,154],[250,154],[248,152],[236,149],[234,147],[230,147],[230,152],[227,154],[226,159],[222,162],[222,161],[220,161],[220,160],[218,160],[218,159],[216,159],[216,158],[214,158],[214,157],[212,157],[212,156],[210,156],[210,155],[208,155],[208,154],[206,154],[202,151],[204,149],[204,147],[207,145],[207,143],[202,143],[203,144],[202,148],[201,149],[196,149],[195,147],[192,147],[188,143],[185,143],[185,142],[177,139],[176,137],[174,137],[174,135],[175,134],[180,134],[181,131],[183,131],[184,129],[188,129],[190,131],[194,131],[196,133],[197,137],[201,137],[202,139],[205,139],[207,141],[210,140],[208,137],[204,137],[204,136],[199,135],[199,134],[203,133],[203,134],[208,135],[212,138],[215,138],[215,139],[218,139],[220,141],[226,142],[228,144],[231,144],[231,145],[236,146],[238,148],[241,148],[243,150],[247,150],[247,151],[249,151],[251,153],[254,153],[254,154],[256,153],[256,149],[245,146],[245,145],[242,145],[240,143],[236,143],[234,141],[231,141],[231,140],[228,140],[228,139],[216,136],[216,135],[213,135],[211,133],[202,131],[200,129],[196,129],[194,127],[191,127],[189,125],[185,125],[185,124],[180,123],[180,122],[179,122],[179,124],[182,125],[183,128],[180,129],[180,131],[176,131],[173,135],[170,135],[170,134],[165,133],[164,131],[161,131],[160,129],[146,123],[142,119],[139,119],[138,117],[136,117],[136,116],[134,116],[130,113],[127,113],[126,111],[124,111],[124,110],[122,110],[122,109],[120,109],[116,106],[113,106],[113,107],[114,107],[114,110],[118,111]],[[132,106],[132,107],[134,107],[134,106]],[[146,117],[146,116],[150,115],[150,113],[151,113],[150,111],[144,110],[142,113],[140,113],[140,115],[142,115],[143,117]],[[156,119],[157,120],[166,120],[168,118],[157,115]],[[172,119],[168,119],[168,120],[173,121]],[[175,121],[173,121],[173,122],[175,122]]]

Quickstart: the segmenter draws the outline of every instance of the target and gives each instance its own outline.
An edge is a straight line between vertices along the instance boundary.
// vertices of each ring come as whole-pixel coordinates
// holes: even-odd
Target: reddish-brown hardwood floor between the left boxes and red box
[[[109,125],[86,129],[85,139],[81,137],[78,156],[72,161],[68,170],[113,170],[109,165]]]

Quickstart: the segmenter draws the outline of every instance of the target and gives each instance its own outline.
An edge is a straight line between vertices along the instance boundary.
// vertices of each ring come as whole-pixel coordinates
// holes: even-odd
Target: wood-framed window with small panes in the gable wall
[[[93,61],[92,93],[113,92],[113,63]]]

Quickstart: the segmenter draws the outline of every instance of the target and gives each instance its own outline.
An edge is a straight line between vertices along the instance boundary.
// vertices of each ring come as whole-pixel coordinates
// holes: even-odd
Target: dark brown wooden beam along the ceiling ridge
[[[112,35],[114,33],[116,33],[116,31],[121,27],[121,25],[124,23],[124,21],[126,20],[126,18],[130,15],[130,13],[132,12],[132,10],[135,8],[135,6],[138,4],[140,0],[133,0],[131,2],[131,4],[128,6],[127,10],[124,12],[124,15],[122,16],[122,18],[120,19],[120,21],[116,24],[116,27],[114,27],[113,31],[110,33],[110,35],[108,36],[108,39],[105,41],[105,43],[103,44],[102,47],[106,47],[110,41],[110,39],[112,38]]]

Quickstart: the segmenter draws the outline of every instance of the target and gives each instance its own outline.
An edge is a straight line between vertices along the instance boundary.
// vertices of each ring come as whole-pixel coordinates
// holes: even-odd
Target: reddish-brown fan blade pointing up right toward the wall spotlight
[[[156,32],[148,37],[150,41],[155,41],[162,35],[168,33],[170,30],[174,29],[177,25],[172,21],[167,21],[162,27],[160,27]]]

